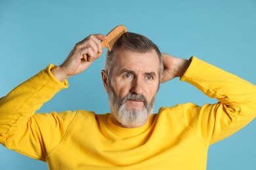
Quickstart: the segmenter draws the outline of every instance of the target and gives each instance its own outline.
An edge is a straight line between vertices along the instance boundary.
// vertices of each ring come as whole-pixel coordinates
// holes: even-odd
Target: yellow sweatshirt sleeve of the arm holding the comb
[[[53,67],[49,65],[0,100],[0,143],[43,161],[47,152],[53,149],[47,148],[46,144],[56,146],[74,117],[74,114],[68,117],[65,113],[54,112],[35,114],[43,103],[60,90],[68,88],[67,80],[60,82],[51,74]]]

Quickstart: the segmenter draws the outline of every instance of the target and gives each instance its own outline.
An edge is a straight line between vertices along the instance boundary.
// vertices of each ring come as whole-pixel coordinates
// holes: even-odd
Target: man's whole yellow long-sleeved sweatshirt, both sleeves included
[[[86,110],[35,114],[68,82],[50,65],[0,101],[0,143],[46,161],[49,169],[205,169],[210,144],[248,124],[256,115],[256,87],[192,58],[181,80],[219,103],[162,107],[147,124],[114,125],[110,114]]]

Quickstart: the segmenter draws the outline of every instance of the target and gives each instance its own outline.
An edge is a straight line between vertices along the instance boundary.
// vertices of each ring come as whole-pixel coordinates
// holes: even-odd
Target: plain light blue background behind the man
[[[106,34],[119,24],[146,35],[163,52],[187,59],[197,56],[256,84],[255,0],[0,0],[0,96],[49,63],[62,63],[75,43],[87,35]],[[109,112],[100,78],[103,64],[104,57],[85,73],[70,78],[70,88],[39,111]],[[175,79],[161,85],[155,112],[163,105],[188,101],[202,105],[215,99]],[[207,169],[256,169],[255,144],[254,120],[210,146]],[[47,165],[0,145],[0,169],[47,169]]]

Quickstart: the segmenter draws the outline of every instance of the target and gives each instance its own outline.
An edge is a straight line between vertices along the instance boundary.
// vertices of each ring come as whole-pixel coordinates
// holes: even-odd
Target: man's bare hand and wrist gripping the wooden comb
[[[102,54],[100,40],[104,39],[106,39],[105,35],[95,34],[78,42],[68,55],[68,58],[60,66],[54,67],[51,72],[61,82],[70,76],[82,73],[91,65],[94,59]]]

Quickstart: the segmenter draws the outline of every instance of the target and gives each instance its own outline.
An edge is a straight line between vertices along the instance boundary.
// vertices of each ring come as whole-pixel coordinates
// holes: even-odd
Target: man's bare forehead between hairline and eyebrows
[[[158,73],[160,61],[156,50],[150,52],[134,52],[120,48],[116,53],[114,69],[130,69],[131,71],[144,71]]]

